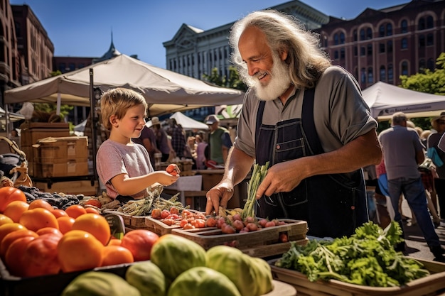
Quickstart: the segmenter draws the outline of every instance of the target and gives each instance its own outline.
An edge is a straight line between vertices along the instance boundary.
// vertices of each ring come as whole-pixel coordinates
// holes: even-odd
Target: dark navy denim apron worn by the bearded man
[[[280,121],[275,126],[262,124],[265,102],[260,102],[255,132],[259,165],[269,161],[271,167],[323,153],[313,122],[313,97],[314,89],[306,89],[302,118]],[[348,174],[308,177],[291,192],[259,199],[257,216],[307,221],[310,236],[349,236],[356,227],[368,221],[363,172],[360,169]]]

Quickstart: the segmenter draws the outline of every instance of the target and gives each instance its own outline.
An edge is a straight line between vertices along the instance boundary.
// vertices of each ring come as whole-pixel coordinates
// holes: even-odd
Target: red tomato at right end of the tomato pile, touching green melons
[[[135,229],[124,235],[121,246],[132,252],[134,261],[144,261],[150,259],[151,247],[158,239],[159,236],[153,231]]]

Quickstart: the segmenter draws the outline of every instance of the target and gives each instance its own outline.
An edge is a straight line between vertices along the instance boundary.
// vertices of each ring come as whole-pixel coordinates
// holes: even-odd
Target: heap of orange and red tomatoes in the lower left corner
[[[144,246],[121,246],[97,209],[80,204],[54,209],[44,199],[26,202],[25,194],[14,187],[0,188],[0,258],[11,275],[50,275],[132,263],[141,249]]]

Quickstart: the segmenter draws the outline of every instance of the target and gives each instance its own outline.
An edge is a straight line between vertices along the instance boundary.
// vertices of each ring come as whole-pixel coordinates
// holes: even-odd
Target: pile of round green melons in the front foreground
[[[266,261],[229,246],[205,251],[173,234],[161,236],[151,248],[151,261],[133,263],[124,278],[89,271],[75,278],[61,295],[259,296],[274,288]]]

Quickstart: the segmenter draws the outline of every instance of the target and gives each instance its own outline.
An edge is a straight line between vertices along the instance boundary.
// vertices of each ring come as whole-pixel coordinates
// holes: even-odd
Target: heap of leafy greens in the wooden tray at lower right
[[[350,237],[311,239],[306,246],[291,242],[289,251],[275,265],[297,270],[312,282],[336,279],[372,287],[400,286],[429,275],[422,263],[395,251],[395,244],[403,241],[401,235],[395,221],[385,230],[368,222]]]

